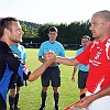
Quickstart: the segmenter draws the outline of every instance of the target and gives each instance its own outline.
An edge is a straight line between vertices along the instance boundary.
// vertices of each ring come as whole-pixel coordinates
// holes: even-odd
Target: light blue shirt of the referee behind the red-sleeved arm
[[[76,52],[76,56],[79,55],[79,54],[82,53],[82,52],[84,52],[84,47],[79,48],[79,50]],[[79,64],[79,65],[77,66],[77,68],[78,68],[79,70],[82,70],[82,72],[88,72],[88,70],[89,70],[89,65],[85,66],[85,65],[82,65],[82,64]]]

